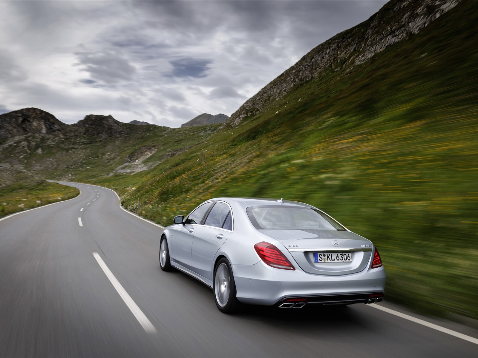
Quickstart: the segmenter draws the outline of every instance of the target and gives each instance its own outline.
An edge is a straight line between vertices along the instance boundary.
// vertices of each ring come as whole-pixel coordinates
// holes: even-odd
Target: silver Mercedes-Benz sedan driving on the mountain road
[[[225,313],[240,303],[302,308],[383,300],[385,270],[372,242],[304,203],[207,200],[164,228],[160,266],[214,290]]]

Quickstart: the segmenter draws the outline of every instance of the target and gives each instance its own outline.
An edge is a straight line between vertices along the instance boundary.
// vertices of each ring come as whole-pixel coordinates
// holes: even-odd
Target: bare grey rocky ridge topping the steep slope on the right
[[[419,32],[460,0],[391,0],[367,21],[338,33],[321,43],[296,64],[267,84],[234,112],[223,126],[238,126],[254,116],[293,87],[320,79],[330,73],[347,76],[388,46]],[[188,122],[189,123],[189,122]]]

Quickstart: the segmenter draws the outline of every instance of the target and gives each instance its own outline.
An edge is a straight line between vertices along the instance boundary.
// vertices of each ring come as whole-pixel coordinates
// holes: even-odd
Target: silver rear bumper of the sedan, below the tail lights
[[[255,305],[280,305],[294,297],[307,298],[307,303],[322,305],[368,303],[369,295],[383,297],[385,292],[383,266],[356,274],[327,276],[308,274],[300,268],[280,270],[260,261],[254,265],[232,265],[232,271],[238,300]],[[359,296],[353,298],[350,295]],[[358,301],[352,302],[352,299]]]

